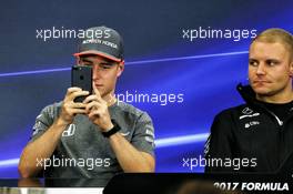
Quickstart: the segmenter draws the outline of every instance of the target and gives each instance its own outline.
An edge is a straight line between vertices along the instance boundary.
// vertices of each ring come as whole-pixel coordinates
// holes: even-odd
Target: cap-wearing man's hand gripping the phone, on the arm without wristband
[[[77,96],[89,95],[88,91],[82,91],[80,88],[69,88],[62,103],[59,120],[64,124],[70,124],[75,114],[85,114],[87,104],[75,103]]]

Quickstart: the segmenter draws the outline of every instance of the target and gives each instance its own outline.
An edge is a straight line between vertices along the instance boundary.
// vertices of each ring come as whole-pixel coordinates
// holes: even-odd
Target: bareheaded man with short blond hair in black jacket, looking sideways
[[[260,33],[249,51],[244,104],[214,119],[205,144],[205,172],[276,172],[293,152],[293,37]]]

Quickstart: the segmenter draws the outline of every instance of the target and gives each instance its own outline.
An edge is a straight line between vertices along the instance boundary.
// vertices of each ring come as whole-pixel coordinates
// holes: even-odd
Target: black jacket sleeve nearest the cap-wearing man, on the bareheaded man
[[[225,159],[232,159],[233,135],[232,135],[232,116],[228,113],[220,113],[214,118],[211,134],[204,145],[205,161],[224,161]],[[209,164],[209,163],[208,163]],[[231,172],[230,167],[224,165],[216,165],[215,162],[210,162],[210,165],[205,165],[205,172]],[[220,164],[220,162],[218,163]],[[222,163],[223,164],[223,163]]]

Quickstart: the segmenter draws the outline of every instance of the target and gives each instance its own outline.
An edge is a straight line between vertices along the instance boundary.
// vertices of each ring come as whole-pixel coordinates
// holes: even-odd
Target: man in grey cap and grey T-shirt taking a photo
[[[153,172],[154,130],[150,116],[118,102],[114,90],[124,70],[123,42],[107,27],[85,31],[78,65],[92,68],[92,89],[69,88],[62,102],[46,106],[37,116],[24,147],[22,177],[111,178],[121,172]],[[82,102],[74,99],[84,96]]]

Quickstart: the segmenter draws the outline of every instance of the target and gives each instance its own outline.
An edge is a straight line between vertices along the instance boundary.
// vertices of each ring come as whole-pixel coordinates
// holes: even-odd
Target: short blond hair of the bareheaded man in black
[[[269,43],[279,42],[287,49],[291,55],[291,61],[293,60],[293,35],[289,31],[277,28],[267,29],[256,35],[252,43],[255,41]]]

